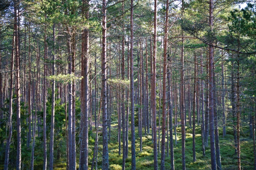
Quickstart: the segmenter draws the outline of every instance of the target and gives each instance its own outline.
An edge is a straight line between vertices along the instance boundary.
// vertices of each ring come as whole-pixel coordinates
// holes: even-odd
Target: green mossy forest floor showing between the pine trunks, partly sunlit
[[[178,121],[180,121],[178,119]],[[136,121],[135,121],[136,122]],[[157,121],[158,122],[158,121]],[[228,122],[228,121],[227,121]],[[188,123],[188,122],[187,122]],[[94,123],[93,123],[94,125]],[[79,129],[79,128],[78,128]],[[91,168],[91,161],[93,158],[93,150],[94,150],[94,138],[95,138],[95,128],[92,128],[93,131],[89,133],[89,167]],[[57,130],[56,130],[57,131]],[[55,132],[56,132],[55,131]],[[221,153],[221,163],[223,170],[236,170],[237,169],[237,155],[234,154],[234,144],[233,144],[233,129],[232,126],[226,126],[227,135],[222,137],[222,127],[219,123],[219,143],[220,143],[220,153]],[[178,125],[177,127],[177,144],[174,141],[174,164],[175,169],[182,169],[181,166],[181,128]],[[254,164],[254,156],[253,156],[253,140],[249,138],[249,129],[248,124],[242,124],[242,130],[240,131],[240,141],[241,141],[241,169],[250,170],[253,169]],[[131,136],[131,132],[129,131],[129,137]],[[160,131],[161,135],[162,131]],[[118,129],[117,129],[117,115],[111,116],[111,138],[109,140],[109,165],[110,170],[121,170],[122,169],[122,142],[121,142],[121,150],[119,155],[119,144],[118,144]],[[144,129],[143,133],[144,134]],[[15,136],[15,135],[14,135]],[[49,137],[49,136],[48,136]],[[47,139],[48,139],[47,137]],[[78,134],[77,143],[79,140]],[[157,131],[158,137],[158,131]],[[54,169],[55,170],[65,170],[66,169],[66,141],[65,141],[65,130],[64,128],[60,132],[59,135],[54,136]],[[39,140],[40,139],[40,140]],[[35,147],[35,164],[34,169],[39,170],[42,169],[43,164],[43,145],[42,145],[42,137],[37,137],[36,147]],[[138,170],[153,170],[154,169],[154,155],[153,155],[153,143],[151,134],[142,135],[142,152],[140,152],[140,138],[138,136],[138,127],[135,124],[135,148],[136,148],[136,169]],[[173,133],[173,140],[175,140],[175,135]],[[122,133],[121,133],[121,141],[122,141]],[[165,139],[167,142],[167,139]],[[22,146],[22,167],[23,169],[29,169],[30,165],[30,155],[31,155],[31,147],[26,148],[26,141],[24,141],[24,145]],[[161,144],[161,136],[160,136],[160,144]],[[210,137],[209,137],[210,144]],[[11,145],[11,152],[14,153],[10,155],[10,169],[11,167],[15,167],[15,144]],[[47,143],[47,148],[49,147],[49,143]],[[202,155],[202,139],[201,139],[201,129],[200,126],[196,125],[196,162],[193,162],[193,153],[192,153],[192,129],[186,127],[186,169],[187,170],[199,170],[211,169],[211,152],[210,145],[205,148],[206,156]],[[128,142],[128,158],[126,159],[126,169],[131,169],[131,141],[129,139]],[[160,149],[161,150],[161,149]],[[1,152],[4,153],[4,152]],[[47,158],[49,156],[49,150],[47,149]],[[102,162],[102,124],[99,124],[99,153],[98,153],[98,170],[101,169]],[[4,158],[1,156],[1,158]],[[3,160],[2,160],[3,161]],[[1,162],[2,162],[1,161]],[[49,161],[49,159],[47,159]],[[77,169],[79,163],[79,145],[77,145]],[[158,153],[158,164],[160,168],[161,163],[161,152]],[[48,164],[48,163],[47,163]],[[94,166],[95,167],[95,166]],[[0,169],[3,169],[3,165],[0,163]],[[165,169],[170,169],[170,156],[168,157],[166,154],[165,158]]]

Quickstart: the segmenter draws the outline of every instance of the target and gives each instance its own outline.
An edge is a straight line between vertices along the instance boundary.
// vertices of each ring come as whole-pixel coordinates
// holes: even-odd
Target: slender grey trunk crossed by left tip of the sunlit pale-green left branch
[[[53,24],[53,55],[52,55],[52,75],[55,75],[55,23]],[[50,129],[50,156],[49,169],[53,170],[53,140],[54,140],[54,114],[55,114],[55,79],[52,80],[52,109],[51,109],[51,129]]]

